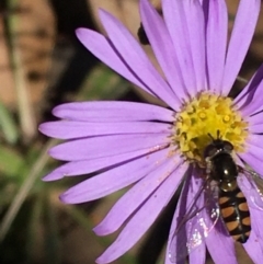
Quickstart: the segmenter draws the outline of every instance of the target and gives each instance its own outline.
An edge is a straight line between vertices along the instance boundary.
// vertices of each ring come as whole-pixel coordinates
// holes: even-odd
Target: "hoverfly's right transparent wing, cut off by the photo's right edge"
[[[263,179],[250,168],[240,168],[240,172],[248,179],[249,198],[254,208],[263,210]],[[242,179],[240,180],[242,181]]]

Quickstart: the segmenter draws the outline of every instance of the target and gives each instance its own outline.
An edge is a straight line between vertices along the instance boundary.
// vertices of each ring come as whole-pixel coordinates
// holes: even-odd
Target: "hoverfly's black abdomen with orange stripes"
[[[241,190],[238,186],[233,191],[220,190],[219,207],[229,234],[233,240],[245,243],[251,223],[248,203]]]

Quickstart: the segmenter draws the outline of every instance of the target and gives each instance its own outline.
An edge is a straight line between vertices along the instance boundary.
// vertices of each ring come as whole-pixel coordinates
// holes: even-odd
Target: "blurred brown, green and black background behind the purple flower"
[[[159,8],[160,0],[151,0]],[[228,0],[229,32],[238,0]],[[64,102],[122,100],[161,102],[117,76],[75,36],[83,26],[103,32],[103,8],[137,37],[137,0],[0,0],[0,263],[93,264],[116,238],[98,238],[98,225],[125,191],[78,206],[58,195],[83,177],[42,182],[59,163],[46,154],[56,140],[37,126],[52,120]],[[153,64],[150,46],[144,46]],[[240,76],[249,79],[263,61],[263,12]],[[158,66],[157,66],[158,67]],[[232,94],[245,84],[237,81]],[[114,264],[163,263],[163,251],[176,197],[156,225]],[[240,263],[250,263],[237,249]],[[213,263],[209,260],[208,262]]]

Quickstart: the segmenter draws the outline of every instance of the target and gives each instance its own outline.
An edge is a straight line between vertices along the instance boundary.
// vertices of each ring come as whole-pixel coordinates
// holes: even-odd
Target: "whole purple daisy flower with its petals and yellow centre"
[[[168,105],[68,103],[53,112],[62,120],[39,127],[49,137],[67,140],[50,149],[52,157],[67,163],[48,174],[46,181],[98,173],[64,193],[62,202],[85,203],[133,184],[94,229],[105,236],[124,226],[98,263],[110,263],[128,251],[182,183],[165,264],[184,263],[186,254],[191,264],[204,263],[206,248],[216,264],[237,264],[235,240],[240,237],[230,233],[231,227],[222,221],[222,209],[214,220],[205,206],[208,200],[213,200],[209,206],[219,203],[209,196],[213,188],[207,174],[213,174],[213,168],[207,168],[221,150],[238,164],[235,183],[249,205],[244,211],[249,210],[251,217],[241,219],[244,226],[251,226],[243,248],[254,263],[262,263],[263,202],[250,177],[253,173],[247,173],[244,164],[263,175],[263,67],[235,100],[228,97],[251,43],[260,7],[260,0],[240,1],[227,45],[225,0],[162,0],[163,18],[148,0],[141,0],[141,22],[163,74],[110,13],[100,11],[106,37],[87,28],[77,31],[81,43],[98,58]],[[220,151],[215,147],[217,140],[225,142]],[[216,148],[213,157],[204,154],[209,148]]]

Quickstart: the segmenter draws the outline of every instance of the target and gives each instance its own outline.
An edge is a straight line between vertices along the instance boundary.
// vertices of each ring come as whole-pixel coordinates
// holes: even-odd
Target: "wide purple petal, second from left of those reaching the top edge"
[[[190,32],[184,8],[184,1],[162,1],[164,21],[173,42],[180,68],[182,69],[183,80],[190,94],[193,94],[197,91],[197,81],[191,53]],[[197,20],[196,23],[198,24],[199,20]]]

